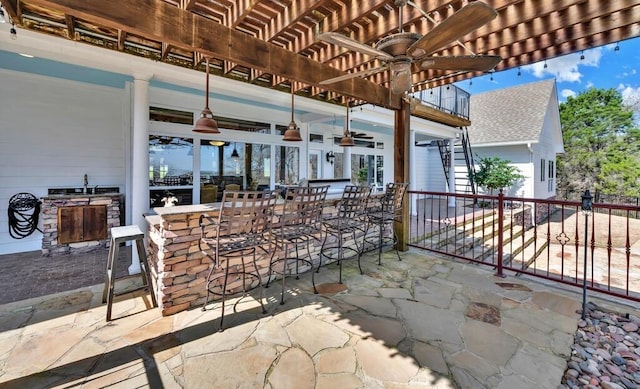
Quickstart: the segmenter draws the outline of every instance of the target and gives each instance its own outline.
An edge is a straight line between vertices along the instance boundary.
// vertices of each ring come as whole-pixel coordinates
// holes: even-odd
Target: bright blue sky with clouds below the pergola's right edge
[[[635,103],[640,113],[640,37],[549,59],[546,65],[542,61],[494,72],[493,80],[491,74],[484,74],[471,79],[471,85],[466,80],[456,86],[473,95],[555,77],[560,103],[587,88],[613,88],[621,92],[626,104]]]

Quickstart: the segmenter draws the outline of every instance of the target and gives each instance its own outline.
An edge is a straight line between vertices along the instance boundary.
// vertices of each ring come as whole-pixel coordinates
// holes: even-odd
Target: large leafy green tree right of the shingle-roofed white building
[[[558,189],[638,196],[640,130],[633,110],[614,89],[589,88],[560,104],[565,154],[558,157]]]

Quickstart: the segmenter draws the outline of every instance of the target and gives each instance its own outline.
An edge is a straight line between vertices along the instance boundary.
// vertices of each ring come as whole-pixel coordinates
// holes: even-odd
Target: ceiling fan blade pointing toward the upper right
[[[481,1],[474,1],[436,25],[408,49],[410,57],[429,55],[454,42],[463,35],[482,27],[498,15],[493,7]]]

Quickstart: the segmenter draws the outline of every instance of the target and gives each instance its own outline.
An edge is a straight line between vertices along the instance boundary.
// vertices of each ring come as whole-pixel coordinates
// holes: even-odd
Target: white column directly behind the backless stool
[[[133,129],[131,131],[131,222],[146,232],[143,214],[149,212],[149,80],[153,74],[134,74]],[[135,246],[129,274],[140,273]]]

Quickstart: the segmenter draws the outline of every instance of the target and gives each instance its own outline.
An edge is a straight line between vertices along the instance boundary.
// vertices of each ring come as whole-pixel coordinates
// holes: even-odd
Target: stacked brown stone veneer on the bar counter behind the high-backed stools
[[[151,268],[152,279],[155,283],[155,292],[158,305],[163,316],[184,311],[189,308],[201,307],[206,297],[205,282],[211,265],[210,258],[201,251],[200,215],[215,214],[217,211],[203,211],[204,206],[178,206],[176,211],[168,211],[162,215],[147,216],[149,224],[147,239],[147,258]],[[201,210],[197,210],[200,208]],[[179,209],[189,211],[179,212]],[[376,234],[377,229],[372,229],[371,234]],[[324,234],[322,235],[324,237]],[[358,239],[360,239],[358,237]],[[322,241],[312,241],[311,257],[314,266],[320,260],[320,246]],[[332,242],[330,242],[332,243]],[[346,244],[349,244],[346,241]],[[293,247],[290,247],[293,250]],[[303,256],[304,250],[301,253]],[[276,256],[282,257],[277,251]],[[292,255],[290,255],[292,256]],[[258,257],[257,265],[263,281],[267,280],[270,255],[263,254]],[[236,259],[237,260],[237,259]],[[238,260],[239,262],[239,260]],[[294,262],[294,261],[291,261]],[[322,263],[329,261],[323,257]],[[293,263],[290,263],[294,266]],[[220,269],[222,273],[222,269]],[[337,282],[337,280],[336,280]],[[236,291],[241,288],[241,280],[236,280],[228,285],[228,290]],[[210,296],[213,300],[217,296]]]

